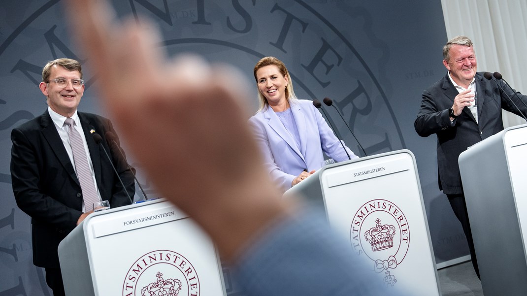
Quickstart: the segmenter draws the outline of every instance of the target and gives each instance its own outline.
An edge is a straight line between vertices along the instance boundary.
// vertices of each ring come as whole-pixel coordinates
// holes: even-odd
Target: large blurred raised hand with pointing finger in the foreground
[[[161,194],[201,224],[225,258],[290,211],[261,164],[242,102],[248,82],[238,71],[196,56],[169,60],[155,25],[120,22],[105,1],[66,4],[124,141]]]

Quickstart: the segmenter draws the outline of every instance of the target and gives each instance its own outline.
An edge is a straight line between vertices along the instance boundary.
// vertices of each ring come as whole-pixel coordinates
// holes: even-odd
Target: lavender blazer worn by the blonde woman
[[[300,147],[270,107],[249,119],[265,167],[284,192],[302,171],[320,169],[323,152],[336,162],[348,160],[333,130],[311,101],[292,102],[291,112],[298,127]],[[348,147],[346,150],[352,159],[358,158]]]

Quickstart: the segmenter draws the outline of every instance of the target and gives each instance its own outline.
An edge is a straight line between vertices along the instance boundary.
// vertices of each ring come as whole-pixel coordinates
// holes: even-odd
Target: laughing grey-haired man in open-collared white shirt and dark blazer
[[[414,127],[420,136],[437,135],[439,188],[463,226],[479,277],[457,159],[467,147],[503,130],[502,109],[520,115],[507,96],[515,100],[523,114],[527,114],[527,108],[502,81],[487,80],[481,72],[476,72],[476,55],[469,38],[452,38],[443,47],[443,57],[448,72],[423,92]],[[527,102],[526,96],[518,95]]]

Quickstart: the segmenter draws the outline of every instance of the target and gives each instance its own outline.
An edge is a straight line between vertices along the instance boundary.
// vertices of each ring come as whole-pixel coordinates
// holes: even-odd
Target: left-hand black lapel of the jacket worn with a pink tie
[[[71,163],[70,157],[68,156],[66,149],[64,148],[62,139],[60,135],[58,135],[57,129],[55,128],[55,124],[53,123],[50,113],[48,113],[47,110],[42,115],[41,126],[42,135],[53,150],[53,153],[57,157],[58,162],[61,163],[66,172],[70,175],[71,179],[73,179],[77,183],[77,185],[81,186],[81,184],[79,183],[79,179],[75,174],[75,170],[73,169],[73,164]]]

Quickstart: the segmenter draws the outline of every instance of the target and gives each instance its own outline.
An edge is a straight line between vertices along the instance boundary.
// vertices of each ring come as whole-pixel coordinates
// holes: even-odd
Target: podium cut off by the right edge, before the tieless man
[[[485,296],[527,293],[527,125],[471,146],[458,159]]]

